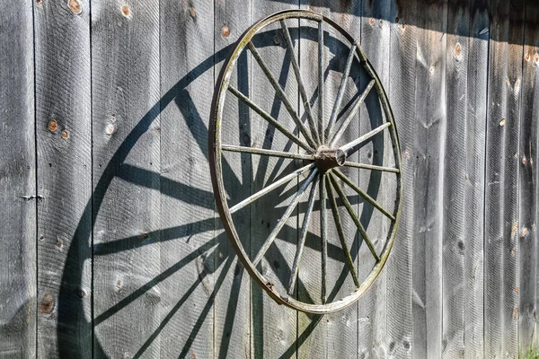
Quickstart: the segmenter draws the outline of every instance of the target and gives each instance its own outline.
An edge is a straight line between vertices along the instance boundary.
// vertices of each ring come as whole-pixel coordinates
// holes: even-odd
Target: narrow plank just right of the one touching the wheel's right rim
[[[418,8],[412,326],[415,357],[439,357],[442,338],[442,206],[446,178],[446,22],[447,2]],[[413,161],[413,160],[412,160]],[[457,166],[463,166],[458,163]]]

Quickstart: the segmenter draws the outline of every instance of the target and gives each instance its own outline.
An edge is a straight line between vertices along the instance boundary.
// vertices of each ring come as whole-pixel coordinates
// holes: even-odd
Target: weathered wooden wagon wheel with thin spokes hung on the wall
[[[319,109],[319,116],[314,119],[309,98],[305,92],[305,85],[303,83],[302,74],[298,64],[296,49],[290,36],[290,31],[287,27],[287,22],[299,20],[307,20],[317,22],[318,24],[318,95],[320,99],[323,98],[324,78],[323,78],[323,56],[326,51],[324,46],[324,28],[329,25],[333,30],[340,33],[340,35],[349,41],[349,56],[347,58],[345,69],[342,73],[342,80],[340,80],[339,91],[337,92],[336,99],[334,101],[333,109],[331,111],[330,118],[323,118],[323,111]],[[287,98],[283,87],[278,83],[278,80],[271,74],[269,66],[264,61],[261,53],[253,44],[253,37],[259,33],[262,29],[267,28],[270,24],[278,22],[280,25],[280,31],[283,39],[285,40],[285,46],[287,48],[287,55],[290,57],[290,63],[296,76],[296,83],[299,90],[301,102],[305,106],[305,120],[303,116],[298,116],[296,109],[292,105],[292,100]],[[267,76],[269,83],[276,92],[276,95],[282,101],[287,108],[287,113],[293,119],[296,128],[287,128],[279,118],[273,118],[267,111],[261,109],[261,107],[243,92],[236,89],[231,84],[231,74],[234,69],[237,68],[238,58],[242,54],[243,50],[247,48],[255,60],[252,61],[252,66],[260,66],[262,72]],[[341,102],[343,100],[343,93],[346,89],[347,78],[349,77],[349,71],[352,63],[359,62],[360,66],[365,70],[367,76],[370,77],[367,87],[362,92],[358,92],[356,100],[349,110],[346,118],[339,118],[338,114],[341,109]],[[244,69],[243,69],[244,70]],[[372,90],[376,90],[379,105],[381,106],[384,122],[383,124],[372,128],[367,133],[358,136],[358,138],[349,141],[348,143],[342,143],[341,137],[347,131],[350,123],[358,113],[358,109],[364,103],[367,94]],[[236,101],[242,101],[246,106],[252,109],[261,120],[265,120],[269,123],[269,126],[274,127],[276,131],[287,137],[289,141],[297,145],[298,151],[275,151],[270,149],[257,148],[254,146],[225,144],[222,138],[222,127],[225,126],[224,119],[224,103],[225,97],[231,95]],[[319,101],[319,106],[322,107],[323,101]],[[384,263],[389,256],[390,250],[393,245],[393,239],[397,230],[397,224],[399,222],[399,216],[401,212],[401,198],[402,198],[402,176],[401,176],[401,157],[398,143],[398,137],[396,128],[393,122],[393,113],[389,106],[387,96],[384,92],[384,88],[380,83],[378,76],[369,63],[365,53],[359,44],[349,35],[347,31],[344,31],[338,24],[332,22],[330,19],[324,17],[319,13],[313,13],[304,10],[292,10],[280,13],[275,13],[269,17],[261,20],[261,22],[255,23],[250,29],[245,31],[240,39],[235,43],[234,50],[226,59],[225,64],[221,69],[221,73],[216,82],[216,91],[214,93],[212,109],[211,109],[210,127],[209,127],[209,155],[210,155],[210,170],[212,176],[212,183],[214,192],[216,195],[216,206],[221,217],[221,221],[224,224],[225,231],[228,234],[230,241],[234,246],[234,250],[242,260],[244,267],[248,270],[252,278],[263,287],[267,293],[270,294],[276,302],[285,304],[298,311],[306,311],[311,313],[328,313],[332,311],[338,311],[349,304],[358,300],[358,298],[364,294],[370,285],[376,280],[376,277],[380,274]],[[372,140],[377,134],[384,136],[384,132],[389,132],[389,138],[391,141],[391,148],[393,150],[394,163],[392,167],[378,166],[370,163],[350,162],[347,158],[349,152],[354,150],[360,144],[364,144],[369,140]],[[229,205],[227,194],[225,193],[225,181],[223,176],[223,155],[224,153],[250,153],[256,156],[273,156],[287,159],[300,160],[302,163],[301,168],[296,171],[292,171],[282,176],[278,180],[274,180],[271,183],[267,183],[264,188],[253,194],[248,194],[243,200],[238,201],[234,206]],[[359,188],[353,180],[350,180],[340,168],[349,167],[357,169],[358,171],[384,171],[392,173],[396,176],[396,186],[394,190],[395,203],[393,210],[389,211],[384,208],[373,197],[370,197],[366,191]],[[270,236],[265,239],[261,245],[261,249],[255,256],[250,256],[243,248],[242,241],[240,241],[238,232],[233,221],[233,214],[245,206],[252,205],[253,202],[259,200],[261,197],[268,195],[276,188],[283,187],[291,180],[298,180],[301,178],[305,180],[299,182],[297,191],[292,197],[287,209],[273,228]],[[391,224],[389,226],[388,235],[384,240],[383,249],[380,252],[376,252],[375,245],[370,241],[367,231],[359,220],[358,214],[355,212],[353,206],[350,204],[348,197],[346,196],[341,184],[345,184],[349,189],[357,192],[358,196],[362,197],[365,201],[374,206],[377,211],[380,211],[383,215],[389,218]],[[310,188],[310,189],[309,189]],[[287,218],[296,209],[298,202],[303,194],[309,193],[305,217],[303,225],[301,226],[301,234],[299,240],[296,243],[296,256],[294,263],[290,271],[291,276],[288,279],[288,289],[285,293],[279,293],[278,289],[270,284],[268,279],[261,274],[261,271],[257,269],[260,265],[261,259],[264,258],[264,254],[274,244],[278,232],[282,229]],[[314,302],[301,302],[293,297],[294,287],[296,285],[296,278],[298,275],[298,268],[301,262],[302,252],[305,247],[305,237],[308,232],[309,221],[312,220],[314,197],[318,195],[323,200],[320,206],[320,228],[321,228],[321,264],[322,264],[322,278],[320,278],[322,298],[320,303]],[[342,227],[342,220],[340,219],[340,208],[344,206],[353,223],[357,226],[357,230],[362,240],[367,244],[368,249],[375,258],[376,264],[372,267],[370,273],[362,282],[358,279],[358,274],[354,267],[352,256],[350,255],[349,248],[346,243],[345,233]],[[270,210],[270,208],[269,208]],[[335,227],[337,229],[339,240],[341,244],[341,250],[344,252],[343,258],[345,258],[345,265],[349,269],[350,275],[353,277],[356,288],[344,298],[340,298],[334,302],[327,302],[326,297],[326,266],[327,266],[327,223],[328,216],[333,217]],[[299,231],[299,230],[298,230]],[[253,257],[253,258],[252,258]],[[281,291],[283,292],[283,291]]]

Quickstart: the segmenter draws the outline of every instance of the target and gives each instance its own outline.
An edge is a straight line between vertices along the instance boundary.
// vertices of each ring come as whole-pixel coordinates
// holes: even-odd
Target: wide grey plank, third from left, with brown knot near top
[[[97,357],[159,355],[158,8],[157,0],[92,2]]]

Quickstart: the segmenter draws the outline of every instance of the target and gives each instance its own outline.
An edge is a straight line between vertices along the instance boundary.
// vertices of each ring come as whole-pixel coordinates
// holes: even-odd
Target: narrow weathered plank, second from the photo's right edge
[[[485,355],[494,357],[518,355],[518,132],[524,2],[495,0],[490,10],[484,346]]]

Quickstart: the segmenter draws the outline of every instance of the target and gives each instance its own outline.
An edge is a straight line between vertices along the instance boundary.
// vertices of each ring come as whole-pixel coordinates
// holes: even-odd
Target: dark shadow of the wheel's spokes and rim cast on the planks
[[[265,43],[258,41],[257,46],[271,46],[273,44],[272,39],[275,36],[275,31],[269,32],[270,33],[265,34],[265,37],[267,39],[271,39],[271,42]],[[291,31],[294,36],[297,36],[297,32],[298,31]],[[347,45],[343,44],[343,46],[348,48]],[[225,59],[232,47],[233,45],[223,48],[217,51],[214,56],[208,57],[206,60],[201,62],[199,66],[196,66],[188,74],[182,77],[181,80],[176,83],[169,91],[165,92],[160,101],[155,103],[155,105],[148,110],[146,115],[141,118],[137,125],[131,130],[124,142],[119,145],[119,148],[116,150],[116,152],[112,154],[110,162],[107,163],[104,168],[104,171],[102,171],[102,177],[95,184],[92,198],[88,201],[87,205],[84,208],[84,214],[82,215],[81,220],[77,225],[75,235],[70,243],[67,252],[66,265],[62,276],[62,285],[60,287],[57,310],[57,344],[59,349],[59,355],[61,357],[71,358],[87,355],[87,353],[79,352],[80,348],[77,344],[80,342],[88,341],[93,341],[93,356],[106,357],[107,354],[100,345],[99,338],[93,337],[93,328],[102,324],[106,320],[110,320],[110,318],[113,317],[115,313],[124,310],[126,307],[128,307],[130,303],[137,301],[137,299],[141,295],[146,293],[151,288],[155,287],[155,285],[159,285],[165,279],[169,278],[174,273],[177,273],[182,267],[190,265],[192,261],[199,258],[201,255],[206,255],[209,252],[208,257],[205,260],[211,263],[220,262],[220,265],[213,267],[212,270],[203,271],[199,275],[197,281],[195,281],[185,293],[181,293],[180,299],[172,307],[172,310],[166,314],[159,326],[155,328],[153,334],[147,338],[146,342],[140,348],[138,348],[135,357],[143,355],[146,349],[152,345],[155,338],[159,336],[159,334],[163,331],[163,328],[166,327],[167,323],[172,320],[174,314],[181,308],[181,306],[188,300],[188,298],[190,298],[191,293],[193,293],[199,286],[199,284],[202,283],[202,280],[206,276],[214,275],[217,269],[220,269],[221,272],[216,277],[215,286],[208,299],[208,302],[205,304],[204,308],[200,312],[199,319],[197,320],[197,323],[194,328],[192,328],[190,336],[188,337],[185,345],[181,348],[180,357],[184,357],[185,355],[189,354],[190,347],[192,346],[197,335],[199,334],[199,329],[202,327],[204,321],[208,318],[208,315],[211,312],[216,294],[219,292],[222,287],[222,284],[225,282],[225,276],[227,276],[228,272],[233,267],[235,256],[228,255],[224,258],[219,258],[218,260],[216,259],[217,253],[220,252],[219,248],[221,246],[229,245],[224,233],[217,235],[210,241],[200,246],[197,250],[194,250],[187,256],[181,258],[181,260],[172,265],[172,267],[165,269],[163,273],[159,274],[158,276],[155,276],[151,281],[147,282],[146,285],[140,286],[139,288],[137,288],[137,290],[128,294],[128,296],[123,298],[117,304],[110,307],[110,309],[97,315],[95,318],[93,318],[93,321],[86,319],[83,306],[83,301],[88,301],[92,299],[81,298],[81,296],[78,295],[80,287],[82,285],[81,279],[83,277],[84,261],[92,260],[93,258],[86,258],[81,256],[81,253],[86,253],[87,251],[80,249],[84,248],[85,246],[92,246],[93,224],[96,222],[96,218],[99,215],[100,208],[107,193],[107,189],[109,188],[111,181],[115,178],[127,181],[134,186],[159,190],[163,196],[178,199],[191,206],[201,206],[207,209],[212,209],[214,207],[213,193],[199,188],[192,188],[191,186],[188,186],[176,180],[167,179],[161,174],[144,170],[135,165],[125,163],[125,161],[128,157],[128,153],[131,151],[134,145],[137,144],[139,138],[143,136],[146,131],[148,131],[150,125],[153,123],[155,118],[159,116],[161,111],[163,111],[163,109],[169,106],[171,103],[174,103],[181,110],[181,113],[183,114],[184,118],[188,118],[188,125],[191,135],[199,145],[199,149],[201,150],[201,152],[204,153],[204,155],[208,159],[208,128],[205,126],[202,118],[200,118],[199,112],[194,104],[194,101],[192,101],[192,98],[190,97],[188,86],[190,85],[190,83],[196,81],[200,75],[205,74],[208,71],[213,71],[214,66],[221,63]],[[339,71],[339,69],[337,68],[337,60],[333,60],[332,62],[330,61],[329,66],[332,66],[333,69]],[[287,65],[287,62],[285,62],[282,68],[282,72],[279,76],[279,81],[286,81],[288,71],[289,64]],[[316,91],[314,93],[316,93]],[[312,98],[312,101],[315,101],[315,97]],[[277,99],[274,99],[271,113],[278,114],[279,110],[282,110],[280,109],[280,107],[281,102]],[[245,128],[243,128],[243,130],[245,130]],[[266,138],[272,138],[272,135],[273,134],[271,134],[269,130],[269,132],[266,134]],[[290,146],[291,144],[288,145],[287,150],[291,148]],[[271,148],[271,143],[265,142],[264,147]],[[270,180],[275,179],[278,176],[278,171],[281,171],[280,169],[282,166],[284,166],[284,162],[278,162],[277,167],[279,168],[279,170],[273,170],[270,173]],[[223,162],[223,167],[225,172],[234,173],[233,168],[228,162]],[[227,177],[227,180],[230,180],[236,188],[245,188],[245,186],[250,186],[252,180],[263,179],[266,176],[268,170],[267,167],[267,162],[261,162],[256,171],[243,171],[243,179],[238,179],[237,177],[229,175]],[[254,179],[251,178],[252,173],[254,173]],[[188,192],[187,189],[189,189],[189,196],[185,195]],[[195,195],[193,195],[193,193]],[[376,197],[376,183],[373,185],[373,188],[369,186],[368,193],[369,195]],[[359,201],[362,201],[357,196],[350,197],[349,199],[352,204],[357,204]],[[320,207],[320,203],[316,203],[314,207]],[[298,206],[298,211],[299,213],[305,213],[305,205]],[[367,225],[367,223],[370,221],[370,217],[371,215],[367,214],[364,217],[364,214],[362,214],[361,221],[364,222],[365,225]],[[93,256],[106,256],[113,253],[119,253],[124,250],[137,249],[146,245],[153,244],[157,241],[172,241],[178,238],[190,238],[193,235],[214,230],[216,230],[215,219],[213,217],[204,218],[196,222],[185,223],[175,227],[161,229],[155,232],[144,233],[138,236],[123,238],[116,241],[95,243],[93,244],[92,251]],[[284,230],[292,231],[295,229],[285,228]],[[290,239],[290,241],[292,241],[292,239]],[[314,233],[308,233],[305,245],[307,247],[310,246],[314,250],[321,250],[319,242],[319,238],[314,235]],[[351,252],[354,259],[357,257],[358,247],[360,245],[361,243],[359,241],[354,241],[352,245]],[[328,249],[328,255],[330,258],[343,260],[342,251],[337,246],[330,245]],[[283,258],[282,252],[275,245],[271,246],[270,250],[268,251],[268,256],[270,256],[271,258],[278,258],[281,263],[286,263],[285,258]],[[237,303],[244,274],[243,267],[240,266],[239,262],[234,266],[234,271],[237,271],[238,274],[237,277],[234,279],[234,290],[232,291],[231,296],[228,300],[225,313],[224,330],[226,330],[226,328],[232,327],[236,311],[238,310]],[[281,271],[281,273],[285,274],[285,276],[279,278],[283,281],[283,284],[287,283],[287,277],[290,275],[290,271],[290,267],[284,267]],[[286,274],[288,276],[286,276]],[[340,274],[338,284],[342,283],[344,281],[344,278],[348,275],[348,269],[343,269],[342,273]],[[339,289],[338,284],[334,286],[332,292],[330,293],[330,299],[334,299],[334,297],[337,295]],[[301,282],[301,280],[298,279],[297,285],[300,291],[306,293],[305,285]],[[261,300],[262,299],[260,293],[256,294],[253,292],[252,301],[259,302],[258,304],[254,303],[253,305],[261,305]],[[310,301],[312,302],[312,299]],[[240,310],[245,309],[242,308]],[[305,339],[309,337],[310,333],[318,325],[322,317],[310,315],[309,318],[313,320],[312,323],[305,329],[304,332],[302,332],[301,334],[298,333],[294,345],[290,346],[287,351],[287,355],[285,356],[290,357],[295,353],[296,348],[298,346],[301,346],[301,343],[303,343]],[[261,323],[263,322],[263,319],[252,318],[252,322]],[[73,328],[76,328],[76,330],[73,330]],[[226,357],[230,346],[230,337],[223,335],[222,338],[223,339],[218,349],[218,356]],[[262,346],[262,344],[257,340],[254,340],[254,345]],[[258,349],[255,347],[255,352],[260,353],[260,350],[260,347],[258,347]]]

